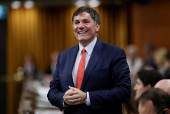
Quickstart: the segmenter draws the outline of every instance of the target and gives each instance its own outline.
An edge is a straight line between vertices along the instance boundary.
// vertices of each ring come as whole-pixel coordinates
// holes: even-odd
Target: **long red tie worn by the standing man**
[[[84,76],[84,68],[85,68],[85,60],[86,60],[86,50],[82,49],[82,57],[79,62],[79,67],[77,70],[77,79],[76,79],[76,88],[80,89],[81,83]]]

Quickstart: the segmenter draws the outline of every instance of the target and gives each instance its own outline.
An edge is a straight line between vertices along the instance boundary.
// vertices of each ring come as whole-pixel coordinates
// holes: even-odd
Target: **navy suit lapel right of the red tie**
[[[103,48],[102,41],[97,39],[96,45],[93,49],[92,55],[90,57],[88,65],[87,65],[87,68],[84,72],[84,77],[83,77],[83,81],[82,81],[81,88],[80,88],[81,90],[84,89],[85,84],[89,79],[91,71],[94,69],[95,65],[97,64],[97,62],[102,54],[102,48]]]

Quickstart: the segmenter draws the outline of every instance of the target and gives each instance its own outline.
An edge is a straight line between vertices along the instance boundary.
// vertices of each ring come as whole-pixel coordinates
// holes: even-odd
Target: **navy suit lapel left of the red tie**
[[[68,68],[67,68],[67,82],[69,83],[69,85],[71,87],[75,87],[74,83],[73,83],[73,78],[72,78],[72,70],[73,70],[73,66],[77,57],[77,52],[78,52],[79,46],[75,46],[75,48],[70,51],[69,53],[69,57],[68,57]]]

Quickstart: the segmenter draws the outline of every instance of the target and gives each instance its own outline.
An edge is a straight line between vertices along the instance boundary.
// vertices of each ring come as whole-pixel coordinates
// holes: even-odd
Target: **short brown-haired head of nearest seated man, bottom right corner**
[[[146,90],[138,102],[139,114],[170,114],[170,96],[160,88]]]

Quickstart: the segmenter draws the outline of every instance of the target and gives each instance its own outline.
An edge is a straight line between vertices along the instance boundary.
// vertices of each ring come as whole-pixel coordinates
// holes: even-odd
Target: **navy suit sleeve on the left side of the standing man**
[[[59,68],[60,68],[60,55],[58,56],[57,59],[56,71],[53,75],[52,81],[50,82],[50,90],[47,94],[47,97],[52,105],[62,110],[64,93],[62,92],[60,85]]]

